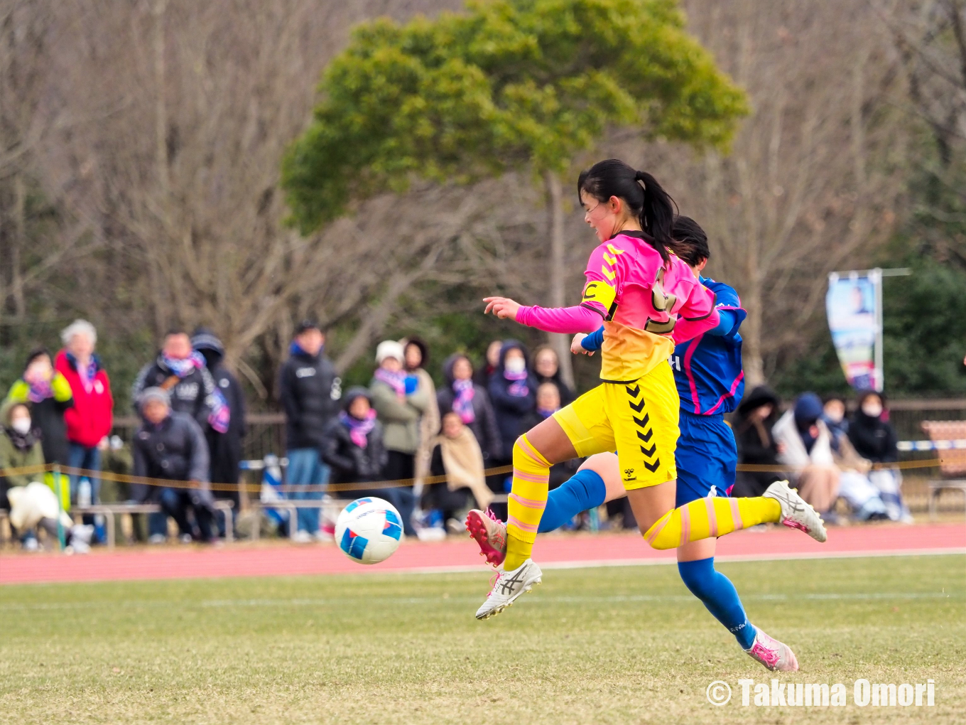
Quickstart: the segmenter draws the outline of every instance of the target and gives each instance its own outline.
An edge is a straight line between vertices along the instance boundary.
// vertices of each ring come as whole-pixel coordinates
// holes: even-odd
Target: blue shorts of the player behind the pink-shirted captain
[[[724,416],[696,416],[681,411],[674,459],[677,463],[675,506],[715,496],[728,496],[734,486],[738,447]]]

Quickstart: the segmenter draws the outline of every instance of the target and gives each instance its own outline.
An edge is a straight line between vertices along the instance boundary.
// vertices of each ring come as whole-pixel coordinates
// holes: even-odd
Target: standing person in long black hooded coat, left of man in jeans
[[[191,347],[205,358],[205,365],[212,374],[215,395],[221,395],[221,403],[227,409],[228,427],[222,433],[209,426],[206,438],[211,457],[211,481],[237,486],[241,479],[241,441],[244,439],[244,392],[241,383],[224,364],[225,348],[215,334],[206,328],[198,328],[191,335]],[[239,510],[238,490],[214,491],[216,499],[235,502],[232,515]],[[220,529],[222,536],[224,528]]]

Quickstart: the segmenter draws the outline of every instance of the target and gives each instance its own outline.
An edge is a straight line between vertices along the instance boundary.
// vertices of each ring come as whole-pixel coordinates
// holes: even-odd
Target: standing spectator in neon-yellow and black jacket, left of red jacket
[[[30,403],[30,415],[34,425],[41,431],[41,447],[45,463],[70,463],[67,440],[67,422],[64,414],[73,406],[71,384],[54,369],[50,353],[43,347],[36,348],[27,357],[23,377],[17,380],[7,393],[9,403]],[[47,473],[43,477],[50,490],[56,492],[55,477]],[[71,509],[71,481],[66,475],[60,483],[61,507]]]

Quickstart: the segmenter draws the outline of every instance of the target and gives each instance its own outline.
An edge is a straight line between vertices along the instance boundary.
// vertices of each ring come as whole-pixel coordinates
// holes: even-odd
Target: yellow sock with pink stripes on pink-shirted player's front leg
[[[507,503],[506,561],[512,571],[529,559],[537,526],[547,507],[550,463],[526,440],[526,434],[513,446],[513,491]]]

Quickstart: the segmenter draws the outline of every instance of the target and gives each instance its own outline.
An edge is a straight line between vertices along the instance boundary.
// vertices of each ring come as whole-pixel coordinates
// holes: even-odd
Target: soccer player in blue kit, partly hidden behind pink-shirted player
[[[734,486],[738,451],[724,415],[735,409],[744,392],[741,335],[745,319],[737,293],[723,282],[700,276],[707,264],[707,236],[690,217],[676,217],[672,237],[674,252],[687,262],[700,282],[716,295],[721,323],[714,330],[679,343],[668,360],[681,399],[675,462],[675,506],[699,499],[728,496]],[[603,328],[574,337],[574,353],[593,355],[600,349]],[[642,442],[645,446],[646,441]],[[614,453],[598,453],[581,469],[550,492],[538,533],[554,531],[581,511],[598,507],[626,495]],[[709,517],[710,518],[710,517]],[[467,529],[492,565],[499,565],[506,551],[506,527],[479,510],[467,517]],[[712,535],[713,536],[713,535]],[[731,632],[741,648],[769,670],[795,671],[794,652],[748,621],[741,599],[731,581],[714,566],[716,538],[688,541],[677,549],[678,571],[688,589]]]

